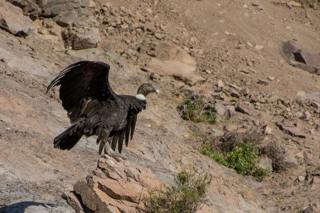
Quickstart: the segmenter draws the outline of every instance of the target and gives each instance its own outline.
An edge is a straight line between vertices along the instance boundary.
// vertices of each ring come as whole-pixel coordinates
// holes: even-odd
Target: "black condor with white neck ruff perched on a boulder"
[[[158,90],[145,83],[136,96],[116,94],[109,85],[109,69],[103,62],[79,61],[64,68],[50,83],[47,92],[60,85],[59,98],[71,122],[70,127],[55,137],[54,148],[70,150],[83,135],[98,136],[99,154],[107,142],[113,151],[118,143],[119,153],[123,140],[128,146],[138,113],[146,108],[146,96]]]

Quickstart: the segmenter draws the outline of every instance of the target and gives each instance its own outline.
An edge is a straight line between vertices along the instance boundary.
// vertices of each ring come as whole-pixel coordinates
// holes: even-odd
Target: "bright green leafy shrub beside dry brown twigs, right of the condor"
[[[240,175],[251,175],[257,180],[262,180],[271,171],[271,168],[264,170],[259,167],[258,161],[262,158],[259,146],[249,141],[225,153],[213,153],[210,144],[200,147],[200,152],[225,167],[234,169]]]

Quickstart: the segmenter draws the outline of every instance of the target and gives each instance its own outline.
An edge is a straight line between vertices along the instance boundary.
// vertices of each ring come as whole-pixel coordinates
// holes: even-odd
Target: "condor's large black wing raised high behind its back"
[[[103,62],[79,61],[63,69],[50,83],[47,92],[53,86],[61,85],[59,97],[72,124],[79,121],[88,107],[98,106],[93,103],[116,99],[117,94],[108,81],[109,69],[110,66]]]

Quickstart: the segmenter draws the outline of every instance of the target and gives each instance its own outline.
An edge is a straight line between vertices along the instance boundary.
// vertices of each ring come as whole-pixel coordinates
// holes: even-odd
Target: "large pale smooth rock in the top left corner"
[[[22,14],[22,10],[8,2],[0,2],[0,28],[15,36],[27,36],[33,30],[30,18]]]

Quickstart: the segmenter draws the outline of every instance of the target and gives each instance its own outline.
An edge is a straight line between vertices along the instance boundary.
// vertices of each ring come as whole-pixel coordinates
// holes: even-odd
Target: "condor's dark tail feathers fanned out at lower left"
[[[83,135],[82,132],[76,131],[78,126],[77,124],[78,123],[71,125],[64,132],[55,137],[53,140],[53,147],[61,150],[72,149]]]

